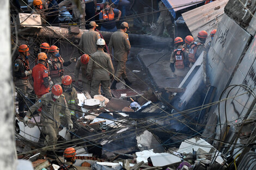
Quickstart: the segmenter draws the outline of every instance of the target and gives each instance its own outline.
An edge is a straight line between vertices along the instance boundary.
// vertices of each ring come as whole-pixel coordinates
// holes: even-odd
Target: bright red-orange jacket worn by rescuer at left
[[[41,97],[49,92],[48,71],[44,65],[39,63],[34,66],[32,69],[32,77],[34,80],[34,91],[36,96]]]

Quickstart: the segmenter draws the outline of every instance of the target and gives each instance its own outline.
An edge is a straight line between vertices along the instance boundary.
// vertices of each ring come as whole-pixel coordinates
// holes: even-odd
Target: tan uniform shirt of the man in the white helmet
[[[93,53],[88,63],[87,73],[91,71],[93,71],[92,79],[109,80],[109,72],[114,74],[114,67],[109,54],[99,50]]]

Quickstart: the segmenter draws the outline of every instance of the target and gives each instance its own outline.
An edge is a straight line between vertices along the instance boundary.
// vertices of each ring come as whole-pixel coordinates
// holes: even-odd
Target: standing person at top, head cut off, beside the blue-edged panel
[[[156,27],[156,30],[153,32],[153,35],[162,36],[163,30],[165,27],[169,36],[174,38],[172,15],[170,15],[169,10],[167,10],[163,2],[159,2],[159,10],[160,11],[163,10],[163,11],[160,12],[160,16],[156,21],[157,27]]]

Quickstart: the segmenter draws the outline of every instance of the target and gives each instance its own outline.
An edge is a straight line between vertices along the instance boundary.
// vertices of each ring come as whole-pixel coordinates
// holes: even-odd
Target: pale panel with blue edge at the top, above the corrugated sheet
[[[202,1],[202,0],[161,0],[164,5],[166,5],[167,8],[174,8],[174,9],[170,9],[170,14],[172,14],[172,16],[175,18],[176,17],[176,14],[175,12],[176,11],[179,11],[181,9],[184,9],[184,8],[187,8],[187,7],[191,7],[192,5],[196,5],[198,3],[194,3],[194,2],[199,2],[199,1]],[[190,3],[193,3],[193,4],[190,4]],[[186,4],[190,4],[190,5],[186,5]],[[184,5],[184,7],[180,7]],[[180,8],[175,8],[175,7],[180,7]]]

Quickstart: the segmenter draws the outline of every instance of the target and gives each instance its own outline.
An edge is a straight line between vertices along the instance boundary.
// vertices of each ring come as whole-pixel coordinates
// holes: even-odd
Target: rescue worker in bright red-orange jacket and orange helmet
[[[48,70],[46,68],[47,55],[45,53],[38,54],[39,64],[35,65],[32,69],[32,78],[34,81],[34,91],[37,97],[45,95],[50,90],[48,79]]]

